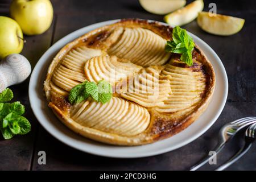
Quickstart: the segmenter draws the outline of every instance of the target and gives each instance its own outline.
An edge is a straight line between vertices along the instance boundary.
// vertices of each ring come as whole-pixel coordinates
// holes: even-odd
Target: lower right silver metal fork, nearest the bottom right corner
[[[250,149],[251,144],[253,144],[255,139],[256,139],[256,123],[248,127],[247,130],[245,131],[245,145],[243,146],[243,148],[241,148],[241,150],[238,151],[237,154],[235,154],[231,159],[229,159],[228,162],[218,167],[216,171],[222,171],[225,168],[229,167],[234,162],[236,162],[238,159],[240,159]]]

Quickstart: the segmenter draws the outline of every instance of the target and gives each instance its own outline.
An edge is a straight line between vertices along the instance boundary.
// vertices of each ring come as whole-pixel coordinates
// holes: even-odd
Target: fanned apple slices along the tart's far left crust
[[[85,46],[77,47],[65,55],[63,61],[55,68],[52,75],[52,88],[59,94],[67,95],[74,86],[86,80],[84,64],[86,60],[102,54],[99,49]]]

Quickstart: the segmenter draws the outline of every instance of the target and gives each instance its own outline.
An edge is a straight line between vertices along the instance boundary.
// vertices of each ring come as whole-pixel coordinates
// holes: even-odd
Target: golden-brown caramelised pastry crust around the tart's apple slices
[[[189,107],[188,109],[177,111],[175,113],[160,113],[155,109],[155,107],[148,107],[147,110],[150,113],[150,124],[146,130],[134,136],[123,136],[108,133],[82,126],[73,121],[70,117],[71,104],[67,101],[67,96],[65,96],[65,94],[61,95],[52,89],[51,81],[53,72],[60,61],[63,60],[63,57],[71,51],[71,49],[82,45],[89,48],[101,49],[103,52],[106,52],[106,49],[114,44],[116,41],[115,39],[118,39],[115,37],[108,39],[109,36],[112,36],[110,35],[110,32],[117,30],[120,27],[146,28],[166,40],[170,40],[172,37],[172,28],[169,26],[141,19],[123,19],[120,22],[90,31],[73,42],[68,43],[54,57],[51,65],[49,66],[46,81],[44,82],[44,92],[46,93],[49,107],[51,107],[57,117],[71,130],[86,138],[104,143],[134,146],[156,142],[157,140],[168,138],[179,133],[191,125],[191,123],[193,123],[205,111],[205,109],[207,109],[214,91],[215,75],[213,67],[198,46],[195,46],[195,49],[193,50],[193,58],[199,61],[200,67],[192,70],[192,66],[189,69],[191,69],[192,72],[199,71],[204,73],[205,89],[200,95],[200,102],[193,105],[193,107]],[[187,66],[182,63],[175,66],[179,68],[187,68]]]

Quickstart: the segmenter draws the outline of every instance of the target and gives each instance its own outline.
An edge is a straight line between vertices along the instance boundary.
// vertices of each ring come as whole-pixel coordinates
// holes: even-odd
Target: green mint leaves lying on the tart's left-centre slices
[[[99,81],[98,84],[93,81],[85,81],[71,89],[68,100],[71,104],[78,104],[88,97],[93,98],[94,101],[105,104],[112,98],[112,86],[105,80]]]

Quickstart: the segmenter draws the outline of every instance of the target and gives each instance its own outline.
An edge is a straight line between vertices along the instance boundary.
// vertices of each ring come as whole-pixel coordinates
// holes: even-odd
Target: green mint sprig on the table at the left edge
[[[0,93],[0,131],[5,139],[11,139],[14,135],[24,135],[30,132],[30,122],[22,116],[25,107],[20,102],[3,103],[13,99],[10,89]]]

